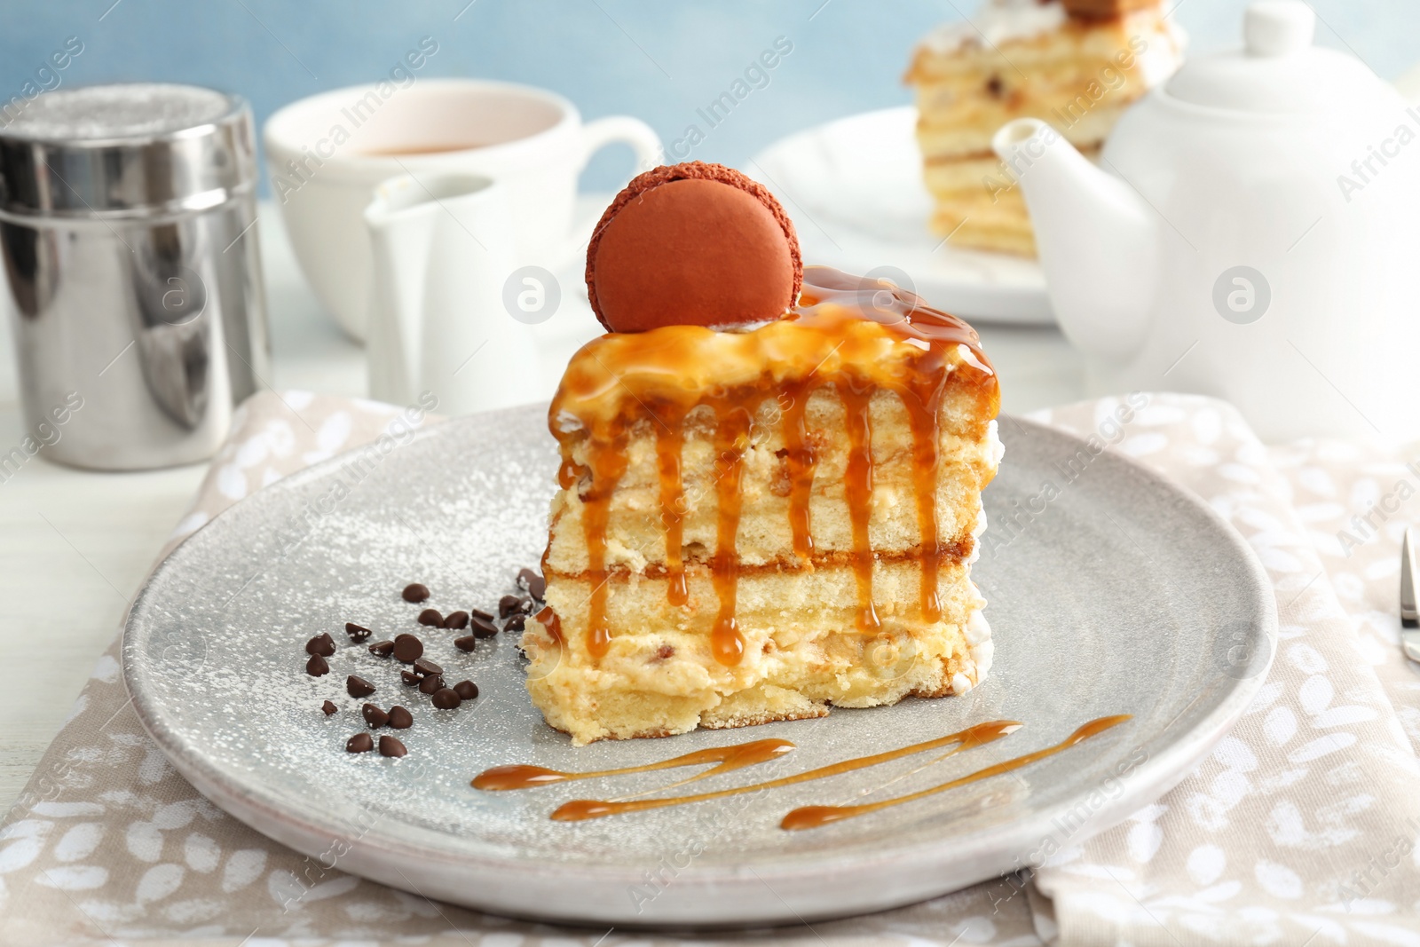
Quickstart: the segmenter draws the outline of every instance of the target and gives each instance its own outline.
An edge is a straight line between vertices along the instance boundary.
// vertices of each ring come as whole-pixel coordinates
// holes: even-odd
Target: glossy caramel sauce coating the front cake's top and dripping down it
[[[711,375],[713,372],[713,375]],[[717,662],[734,666],[744,652],[736,628],[741,467],[761,403],[787,395],[782,410],[790,478],[790,525],[801,565],[814,557],[809,497],[816,457],[804,412],[809,396],[832,386],[846,412],[851,442],[845,494],[852,524],[851,562],[858,585],[858,628],[873,632],[872,517],[873,459],[869,403],[878,389],[902,400],[913,437],[913,486],[922,538],[919,608],[940,618],[937,575],[941,552],[936,510],[940,407],[947,378],[970,373],[974,386],[997,398],[995,372],[976,331],[927,307],[886,281],[808,267],[799,304],[784,318],[741,331],[700,325],[662,325],[646,332],[615,332],[585,345],[568,365],[552,400],[550,426],[562,450],[559,483],[578,486],[585,505],[588,578],[592,584],[586,649],[601,657],[611,646],[606,619],[606,527],[611,496],[628,467],[626,444],[638,422],[657,426],[660,518],[666,538],[669,601],[687,601],[682,561],[686,498],[680,453],[686,415],[707,405],[716,417],[717,548],[710,558],[719,611],[711,628]],[[994,412],[993,412],[994,413]],[[585,464],[574,460],[584,450]],[[541,620],[541,616],[540,616]]]

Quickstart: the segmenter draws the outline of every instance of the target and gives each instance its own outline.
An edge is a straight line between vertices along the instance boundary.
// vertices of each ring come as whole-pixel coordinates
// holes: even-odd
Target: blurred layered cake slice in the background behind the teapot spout
[[[1022,256],[1035,239],[1015,176],[991,136],[1017,118],[1049,122],[1088,156],[1123,111],[1173,75],[1183,33],[1159,0],[987,0],[917,45],[917,143],[951,243]]]

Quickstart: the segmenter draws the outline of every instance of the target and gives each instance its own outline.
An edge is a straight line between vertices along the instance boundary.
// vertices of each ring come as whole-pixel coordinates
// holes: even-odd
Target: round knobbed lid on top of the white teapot
[[[1241,50],[1190,60],[1164,88],[1194,105],[1274,115],[1353,109],[1394,94],[1360,60],[1312,45],[1315,34],[1316,13],[1302,0],[1255,0]]]

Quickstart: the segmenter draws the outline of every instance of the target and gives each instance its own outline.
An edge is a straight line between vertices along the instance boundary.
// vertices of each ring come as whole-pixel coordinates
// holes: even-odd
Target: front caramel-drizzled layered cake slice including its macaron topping
[[[1001,454],[976,332],[798,260],[738,172],[628,186],[588,250],[611,329],[552,400],[528,690],[575,744],[941,697],[991,662],[968,569]]]

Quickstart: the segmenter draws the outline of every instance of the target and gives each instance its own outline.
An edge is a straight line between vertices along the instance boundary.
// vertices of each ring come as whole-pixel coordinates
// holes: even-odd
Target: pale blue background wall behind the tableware
[[[258,124],[322,89],[379,78],[420,37],[439,43],[423,75],[544,85],[584,116],[626,112],[666,142],[784,35],[794,51],[692,158],[743,163],[775,138],[909,101],[912,43],[980,0],[10,0],[0,31],[9,99],[70,35],[84,53],[62,85],[169,80],[246,95]],[[1176,4],[1196,53],[1237,43],[1244,0]],[[1386,78],[1420,61],[1416,0],[1315,0],[1319,38]],[[604,153],[584,183],[611,186],[629,155]]]

